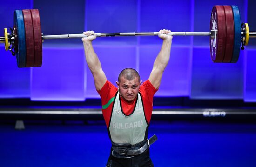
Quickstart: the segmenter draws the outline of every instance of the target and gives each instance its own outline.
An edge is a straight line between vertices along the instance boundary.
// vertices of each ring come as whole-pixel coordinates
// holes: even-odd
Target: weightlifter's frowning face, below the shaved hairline
[[[133,80],[126,80],[124,77],[121,77],[120,82],[116,82],[116,84],[118,85],[122,98],[132,101],[139,93],[141,82],[137,77]]]

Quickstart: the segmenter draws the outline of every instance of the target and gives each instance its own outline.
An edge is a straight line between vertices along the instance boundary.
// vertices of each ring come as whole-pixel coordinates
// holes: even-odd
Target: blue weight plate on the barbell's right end
[[[233,56],[231,63],[236,63],[240,54],[240,46],[241,46],[241,19],[240,13],[237,6],[232,5],[233,15],[234,15],[234,48],[233,48]]]

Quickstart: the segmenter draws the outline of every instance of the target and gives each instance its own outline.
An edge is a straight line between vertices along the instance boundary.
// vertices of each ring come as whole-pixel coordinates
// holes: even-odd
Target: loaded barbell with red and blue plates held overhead
[[[84,34],[44,35],[41,33],[38,9],[14,11],[14,26],[11,33],[4,28],[4,37],[0,43],[5,50],[16,55],[18,67],[40,67],[42,65],[42,42],[47,39],[83,38]],[[154,36],[158,32],[142,33],[96,33],[97,37],[114,36]],[[237,6],[214,6],[211,13],[210,32],[171,32],[168,35],[210,36],[210,53],[213,62],[236,63],[240,54],[248,45],[250,37],[247,23],[241,24]],[[242,44],[242,46],[241,46]]]

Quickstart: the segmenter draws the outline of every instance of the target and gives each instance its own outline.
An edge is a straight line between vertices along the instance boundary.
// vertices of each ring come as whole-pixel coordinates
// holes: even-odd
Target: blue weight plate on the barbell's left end
[[[26,67],[26,38],[22,10],[14,11],[14,26],[18,32],[18,52],[16,53],[18,67]]]

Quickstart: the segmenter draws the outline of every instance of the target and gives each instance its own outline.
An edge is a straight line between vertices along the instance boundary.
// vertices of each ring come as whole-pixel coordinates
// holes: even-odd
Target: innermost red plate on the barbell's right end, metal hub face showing
[[[210,30],[216,30],[210,38],[210,52],[213,62],[222,62],[226,47],[226,18],[223,6],[214,6],[211,14]]]

